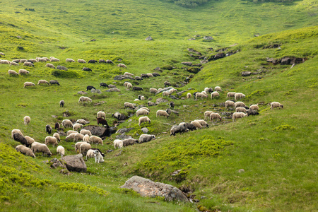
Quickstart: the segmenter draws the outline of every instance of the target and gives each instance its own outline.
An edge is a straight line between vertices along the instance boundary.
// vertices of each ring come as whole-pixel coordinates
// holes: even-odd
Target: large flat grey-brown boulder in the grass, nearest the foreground
[[[167,201],[188,201],[187,196],[176,187],[161,182],[153,182],[150,179],[139,176],[131,177],[121,188],[133,189],[135,192],[141,194],[141,196],[163,196]]]

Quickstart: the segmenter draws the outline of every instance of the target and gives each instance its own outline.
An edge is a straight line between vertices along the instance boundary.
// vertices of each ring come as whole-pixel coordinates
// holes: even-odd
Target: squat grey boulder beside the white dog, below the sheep
[[[83,155],[66,155],[62,157],[61,162],[66,165],[67,170],[70,172],[86,172],[87,167],[83,160]]]

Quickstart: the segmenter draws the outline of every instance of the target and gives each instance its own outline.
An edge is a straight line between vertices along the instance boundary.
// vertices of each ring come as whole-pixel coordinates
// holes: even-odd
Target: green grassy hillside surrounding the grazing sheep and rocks
[[[0,201],[3,211],[314,211],[317,208],[317,2],[253,3],[250,1],[208,1],[204,6],[183,8],[167,1],[1,1],[0,59],[57,57],[54,66],[66,66],[64,77],[52,75],[56,69],[36,63],[27,67],[27,76],[8,76],[8,69],[18,71],[23,65],[0,64]],[[146,42],[151,35],[155,41]],[[194,35],[196,40],[188,40]],[[204,35],[213,36],[204,42]],[[254,35],[261,35],[254,37]],[[96,39],[96,41],[90,41]],[[233,45],[237,44],[237,45]],[[232,45],[230,47],[230,45]],[[275,48],[270,46],[276,45]],[[19,48],[23,47],[23,49]],[[270,47],[270,48],[269,48]],[[195,91],[221,86],[220,98],[211,100],[173,100],[175,110],[169,119],[155,117],[166,103],[150,107],[151,124],[138,125],[138,117],[130,117],[117,126],[134,127],[128,134],[138,138],[147,126],[157,139],[114,150],[117,134],[105,139],[105,163],[86,161],[88,173],[62,175],[43,163],[47,157],[28,158],[16,153],[18,142],[11,130],[44,143],[45,125],[61,122],[63,112],[68,119],[88,119],[95,124],[96,113],[107,114],[113,126],[114,112],[124,114],[124,102],[134,102],[139,94],[155,101],[162,97],[148,89],[173,86],[192,73],[182,61],[199,63],[189,57],[193,48],[207,57],[237,52],[230,57],[209,61],[184,87]],[[268,58],[304,58],[305,62],[273,65]],[[112,59],[114,64],[66,63],[73,59]],[[124,63],[128,69],[119,69]],[[163,69],[165,66],[176,69]],[[81,71],[83,66],[92,72]],[[129,71],[139,76],[163,72],[158,78],[140,83],[141,93],[124,88],[124,81],[113,77]],[[257,75],[242,77],[242,71]],[[57,79],[61,86],[23,88],[25,81]],[[78,104],[78,93],[86,86],[112,83],[120,93],[88,92],[93,99]],[[228,91],[245,93],[246,105],[259,103],[259,116],[232,122],[223,115],[221,122],[208,121],[208,129],[199,129],[170,137],[170,128],[180,122],[204,119],[206,110],[233,112],[220,105]],[[186,95],[186,93],[184,93]],[[182,96],[184,96],[182,95]],[[59,107],[59,100],[66,102]],[[165,97],[166,100],[172,100]],[[281,102],[283,110],[270,110],[269,103]],[[136,102],[146,105],[145,101]],[[98,104],[97,104],[98,103]],[[31,117],[24,126],[23,117]],[[69,129],[64,129],[67,131]],[[76,154],[73,142],[61,138],[67,155]],[[50,146],[52,158],[60,158]],[[244,169],[244,172],[239,170]],[[172,172],[181,170],[178,175]],[[165,182],[189,192],[196,204],[166,202],[143,198],[135,192],[119,189],[133,175]],[[41,195],[39,195],[41,194]],[[31,207],[30,207],[31,206]],[[67,209],[66,209],[67,208]]]

